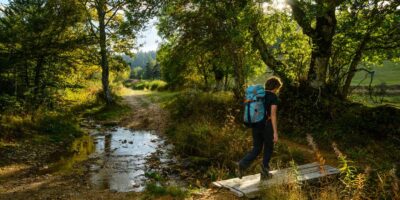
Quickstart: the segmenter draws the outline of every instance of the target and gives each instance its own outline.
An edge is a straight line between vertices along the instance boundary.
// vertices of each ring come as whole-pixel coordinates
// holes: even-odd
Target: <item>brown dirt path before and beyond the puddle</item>
[[[163,134],[168,113],[148,98],[148,92],[128,90],[123,102],[132,112],[119,125],[138,130],[155,130]],[[40,149],[38,149],[40,151]],[[40,159],[40,158],[39,158]],[[9,164],[0,167],[0,200],[10,199],[175,199],[171,196],[152,196],[146,193],[120,193],[92,188],[88,168],[91,160],[76,163],[67,171],[47,165]],[[187,199],[236,199],[228,191],[201,188]]]

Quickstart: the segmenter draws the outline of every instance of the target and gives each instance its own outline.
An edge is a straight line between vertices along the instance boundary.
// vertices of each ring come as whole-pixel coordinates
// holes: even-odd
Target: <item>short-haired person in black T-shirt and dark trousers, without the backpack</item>
[[[239,178],[242,178],[244,170],[257,158],[264,147],[264,157],[261,166],[261,179],[271,177],[269,173],[269,160],[273,152],[274,143],[278,141],[277,94],[282,87],[282,82],[278,77],[270,77],[265,82],[265,119],[252,126],[253,149],[239,161]],[[265,112],[264,112],[265,113]]]

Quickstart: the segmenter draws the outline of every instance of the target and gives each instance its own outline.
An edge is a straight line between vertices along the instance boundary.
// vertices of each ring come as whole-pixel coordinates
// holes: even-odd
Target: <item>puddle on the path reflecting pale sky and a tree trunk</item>
[[[117,128],[104,134],[94,134],[94,155],[90,181],[98,189],[118,192],[142,191],[146,171],[145,159],[156,152],[163,141],[148,131]]]

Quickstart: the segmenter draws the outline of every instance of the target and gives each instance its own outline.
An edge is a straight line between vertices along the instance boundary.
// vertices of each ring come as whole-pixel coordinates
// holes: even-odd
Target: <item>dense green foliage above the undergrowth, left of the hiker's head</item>
[[[249,9],[242,1],[166,3],[159,25],[167,39],[158,56],[163,79],[172,88],[219,91],[233,77],[240,96],[247,76],[264,67],[251,48]]]

